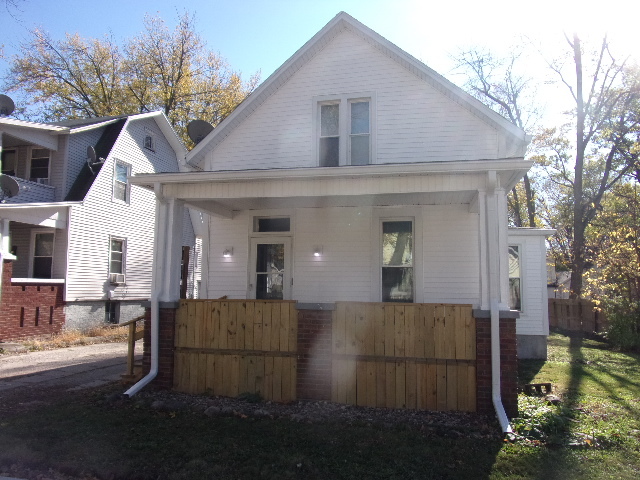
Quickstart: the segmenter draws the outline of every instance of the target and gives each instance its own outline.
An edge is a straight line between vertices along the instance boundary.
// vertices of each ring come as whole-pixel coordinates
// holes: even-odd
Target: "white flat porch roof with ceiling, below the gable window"
[[[218,172],[139,174],[134,185],[155,189],[205,213],[291,207],[474,205],[495,171],[509,190],[530,168],[522,158]]]

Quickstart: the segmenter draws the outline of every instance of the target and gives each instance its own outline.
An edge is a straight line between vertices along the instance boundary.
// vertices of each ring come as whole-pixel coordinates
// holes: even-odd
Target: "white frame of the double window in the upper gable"
[[[313,112],[313,164],[320,167],[320,114],[322,105],[338,104],[339,143],[338,166],[351,165],[351,103],[369,102],[369,162],[376,163],[376,94],[375,92],[354,92],[340,95],[319,95],[312,99]],[[359,165],[365,166],[365,165]],[[326,167],[325,167],[326,168]]]

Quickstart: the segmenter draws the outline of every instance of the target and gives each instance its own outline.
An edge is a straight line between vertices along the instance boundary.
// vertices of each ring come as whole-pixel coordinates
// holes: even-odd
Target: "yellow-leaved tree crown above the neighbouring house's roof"
[[[44,120],[100,117],[162,110],[185,143],[186,124],[200,118],[217,125],[255,88],[243,82],[217,53],[207,49],[184,13],[171,31],[147,16],[143,32],[119,48],[111,37],[54,40],[32,32],[11,62],[8,91]]]

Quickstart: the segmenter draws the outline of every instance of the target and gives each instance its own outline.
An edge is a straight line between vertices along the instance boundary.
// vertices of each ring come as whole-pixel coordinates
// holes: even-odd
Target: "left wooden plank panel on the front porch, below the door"
[[[176,316],[174,388],[229,397],[296,398],[295,302],[182,300]]]

